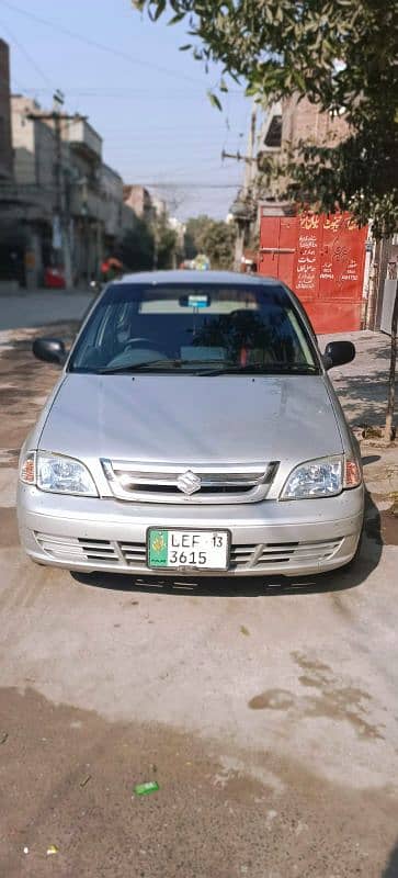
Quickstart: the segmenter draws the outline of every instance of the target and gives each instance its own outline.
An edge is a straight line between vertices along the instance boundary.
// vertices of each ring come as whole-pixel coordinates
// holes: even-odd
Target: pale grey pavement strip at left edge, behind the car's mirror
[[[83,290],[18,291],[0,296],[0,331],[80,320],[94,293]]]

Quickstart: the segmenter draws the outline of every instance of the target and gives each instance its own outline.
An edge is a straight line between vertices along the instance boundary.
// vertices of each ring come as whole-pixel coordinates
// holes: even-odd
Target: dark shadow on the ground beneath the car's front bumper
[[[382,555],[382,526],[377,506],[366,491],[365,524],[359,558],[352,567],[311,576],[151,576],[121,573],[77,573],[72,578],[82,585],[120,592],[203,595],[206,597],[264,597],[265,595],[322,594],[356,588],[377,567]]]

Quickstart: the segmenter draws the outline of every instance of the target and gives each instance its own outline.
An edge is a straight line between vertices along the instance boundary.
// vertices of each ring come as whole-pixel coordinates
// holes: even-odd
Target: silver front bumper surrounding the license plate
[[[351,561],[363,510],[362,486],[326,499],[190,508],[46,494],[21,483],[18,493],[21,543],[33,561],[87,573],[162,577],[164,570],[147,566],[149,527],[229,530],[230,567],[223,576],[306,575]],[[215,575],[170,570],[172,576],[187,574]]]

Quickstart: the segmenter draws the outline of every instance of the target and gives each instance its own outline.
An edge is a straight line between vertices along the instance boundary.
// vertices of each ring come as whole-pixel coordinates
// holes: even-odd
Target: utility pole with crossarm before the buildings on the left
[[[57,90],[53,95],[54,104],[50,113],[27,113],[26,117],[32,121],[53,122],[54,136],[55,136],[55,212],[54,212],[54,235],[53,239],[56,241],[55,249],[59,249],[62,254],[64,271],[65,271],[65,285],[67,289],[73,286],[73,272],[70,252],[70,207],[69,199],[65,193],[65,185],[62,179],[62,123],[64,122],[83,122],[87,116],[81,116],[78,113],[69,115],[61,112],[65,95],[61,91]],[[59,244],[58,244],[59,237]],[[54,246],[54,245],[53,245]]]

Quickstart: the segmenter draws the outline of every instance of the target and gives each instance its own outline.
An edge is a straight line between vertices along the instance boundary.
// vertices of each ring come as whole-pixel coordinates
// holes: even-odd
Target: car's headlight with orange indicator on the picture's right
[[[296,466],[282,491],[282,500],[336,497],[343,488],[357,487],[362,474],[356,460],[344,454],[309,460]]]

